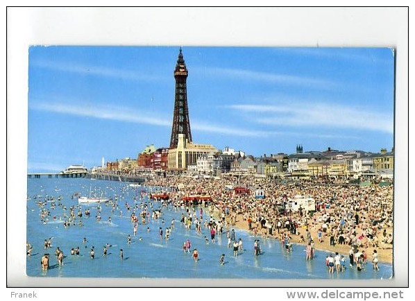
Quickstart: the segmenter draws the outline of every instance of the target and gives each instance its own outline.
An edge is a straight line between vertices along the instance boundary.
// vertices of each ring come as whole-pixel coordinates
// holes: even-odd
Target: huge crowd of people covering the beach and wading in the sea
[[[281,241],[285,252],[292,252],[292,244],[300,243],[305,246],[305,259],[314,259],[316,249],[328,250],[333,254],[326,258],[328,273],[341,273],[345,270],[345,255],[349,255],[349,266],[357,270],[366,268],[366,261],[373,262],[373,270],[379,270],[378,261],[391,263],[393,250],[393,185],[380,187],[371,185],[356,187],[342,184],[330,184],[319,180],[301,180],[282,182],[264,178],[223,178],[222,180],[206,180],[185,177],[158,178],[146,182],[153,191],[168,193],[168,200],[160,201],[163,205],[171,205],[173,209],[181,211],[180,223],[186,230],[196,230],[199,234],[202,227],[208,228],[210,239],[205,236],[206,243],[214,243],[217,235],[226,233],[227,247],[233,250],[237,257],[244,250],[242,239],[235,237],[234,228],[243,228],[257,236],[271,237]],[[241,193],[235,193],[235,187],[244,187]],[[255,198],[255,190],[262,189],[264,198]],[[146,191],[146,197],[151,193]],[[315,210],[287,209],[287,200],[297,195],[310,196],[315,200]],[[196,199],[196,203],[185,198],[186,196],[209,196]],[[141,198],[145,196],[142,195]],[[199,205],[200,212],[191,205]],[[54,202],[51,205],[56,206]],[[112,213],[119,208],[117,200],[110,200]],[[59,206],[59,204],[58,204]],[[189,209],[192,208],[192,209]],[[65,208],[66,209],[66,208]],[[100,206],[97,207],[96,221],[101,220]],[[162,211],[153,208],[153,203],[138,205],[126,204],[125,210],[130,214],[133,223],[133,236],[137,234],[137,225],[149,224],[150,220],[162,218]],[[199,210],[199,209],[198,209]],[[89,216],[90,212],[84,212]],[[45,223],[51,216],[46,207],[42,207],[41,221]],[[64,226],[82,227],[83,212],[76,206],[69,208],[69,215],[65,214]],[[214,218],[212,218],[214,217]],[[55,217],[53,217],[55,218]],[[76,223],[78,220],[78,223]],[[108,221],[111,223],[111,220]],[[160,239],[168,240],[174,229],[174,220],[169,223],[163,232],[159,228]],[[149,231],[149,227],[147,227]],[[84,242],[86,239],[84,238]],[[128,244],[131,236],[128,234]],[[108,246],[109,247],[109,246]],[[191,251],[189,240],[183,243],[183,252],[192,254],[195,262],[198,261],[198,250]],[[51,248],[51,238],[44,240],[44,249]],[[26,252],[31,256],[33,247],[28,243]],[[71,255],[79,255],[79,247],[70,250]],[[103,256],[107,254],[104,246]],[[254,256],[261,255],[260,239],[255,239],[253,246]],[[343,254],[343,255],[341,255]],[[367,258],[371,254],[371,258]],[[94,247],[90,250],[90,258],[94,259]],[[120,249],[119,257],[123,259]],[[225,255],[220,255],[219,263],[223,265]],[[62,250],[56,249],[56,258],[59,265],[63,265],[65,258]],[[49,253],[44,253],[41,259],[42,270],[49,267]]]

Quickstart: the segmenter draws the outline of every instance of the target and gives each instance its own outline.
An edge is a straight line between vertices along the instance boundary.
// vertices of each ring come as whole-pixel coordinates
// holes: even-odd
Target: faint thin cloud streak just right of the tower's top
[[[265,83],[281,83],[285,85],[297,85],[302,87],[315,87],[319,89],[332,89],[337,87],[337,84],[331,80],[311,78],[307,76],[294,76],[289,74],[277,74],[269,72],[251,71],[244,69],[230,69],[221,67],[203,68],[196,71],[203,72],[204,74],[225,76],[228,78],[234,78],[238,80],[255,80]]]

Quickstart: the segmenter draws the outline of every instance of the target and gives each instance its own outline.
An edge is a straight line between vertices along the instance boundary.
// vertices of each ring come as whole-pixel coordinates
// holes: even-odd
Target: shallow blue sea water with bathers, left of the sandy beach
[[[213,278],[213,279],[389,279],[393,275],[391,264],[379,263],[380,271],[373,271],[372,264],[366,264],[366,270],[357,271],[349,268],[348,255],[346,271],[329,275],[325,266],[325,257],[329,252],[316,250],[315,258],[305,260],[305,246],[294,244],[292,252],[285,252],[279,240],[264,239],[253,236],[251,233],[235,229],[235,236],[242,239],[244,251],[234,257],[232,247],[228,248],[226,232],[216,235],[214,242],[210,241],[210,231],[202,224],[202,233],[198,234],[192,224],[192,230],[186,230],[180,223],[180,210],[172,206],[163,207],[161,203],[148,198],[140,198],[142,191],[158,191],[162,187],[133,187],[127,182],[105,180],[90,180],[86,178],[29,178],[27,192],[27,233],[26,238],[33,246],[32,255],[26,259],[26,273],[29,277],[128,277],[128,278]],[[112,212],[110,203],[101,204],[98,212],[97,204],[79,205],[74,193],[87,196],[89,193],[108,196],[115,200],[117,207]],[[45,198],[55,198],[55,208],[52,201],[39,205]],[[61,200],[58,200],[61,198]],[[127,212],[126,203],[130,206]],[[153,209],[162,211],[161,218],[151,219],[143,225],[141,220],[137,234],[133,236],[133,223],[130,215],[135,203],[153,204]],[[64,214],[69,216],[70,207],[74,206],[77,216],[82,209],[82,226],[64,227]],[[65,209],[65,208],[66,209]],[[90,209],[90,217],[85,216],[85,209]],[[42,209],[50,212],[48,221],[42,221]],[[151,207],[148,209],[151,211]],[[195,208],[199,218],[200,207]],[[209,213],[203,209],[203,222],[209,221]],[[122,214],[120,214],[122,211]],[[141,209],[137,209],[138,215]],[[96,221],[96,216],[101,221]],[[111,221],[109,221],[111,218]],[[174,219],[174,228],[169,240],[160,239],[159,230],[163,234],[170,227]],[[149,227],[149,231],[147,230]],[[128,235],[131,243],[128,243]],[[209,240],[205,241],[205,236]],[[87,242],[83,242],[83,238]],[[52,246],[44,249],[44,240],[51,238]],[[191,252],[183,252],[183,243],[192,244]],[[262,255],[254,256],[253,245],[255,239],[260,239]],[[103,246],[109,244],[107,255],[103,256]],[[55,250],[59,247],[63,251],[64,264],[58,265]],[[71,255],[71,248],[79,247],[80,255]],[[94,248],[95,258],[90,258],[90,250]],[[192,250],[197,248],[198,262],[192,258]],[[119,250],[124,252],[124,259],[120,259]],[[44,253],[50,254],[49,270],[42,271],[40,259]],[[225,262],[221,266],[219,257],[225,254]]]

